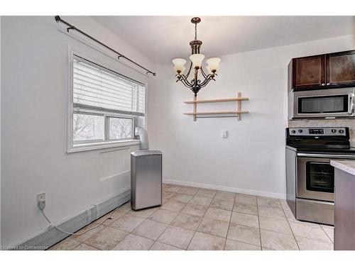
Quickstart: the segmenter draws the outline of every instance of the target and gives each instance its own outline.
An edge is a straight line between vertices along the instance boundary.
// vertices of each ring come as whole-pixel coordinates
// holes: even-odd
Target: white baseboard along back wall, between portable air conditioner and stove
[[[182,186],[187,186],[187,187],[200,187],[202,189],[216,189],[216,190],[220,190],[220,191],[224,191],[224,192],[250,194],[250,195],[255,195],[255,196],[267,196],[269,198],[275,198],[275,199],[286,199],[285,194],[279,194],[279,193],[273,193],[273,192],[263,192],[263,191],[252,190],[252,189],[239,189],[236,187],[222,187],[222,186],[217,186],[214,184],[202,184],[202,183],[186,182],[186,181],[173,180],[173,179],[163,179],[163,183],[180,184]]]

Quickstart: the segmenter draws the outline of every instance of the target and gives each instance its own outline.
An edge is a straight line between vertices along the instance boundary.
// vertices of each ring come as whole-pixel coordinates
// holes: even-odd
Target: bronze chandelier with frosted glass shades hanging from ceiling
[[[191,46],[191,55],[190,60],[191,64],[187,74],[185,75],[184,72],[186,70],[185,64],[186,60],[183,58],[175,58],[172,62],[174,64],[174,70],[176,72],[175,77],[177,77],[176,82],[180,81],[184,84],[187,88],[191,89],[194,92],[195,97],[197,97],[197,92],[200,91],[203,87],[205,87],[211,80],[217,76],[216,72],[219,67],[219,62],[221,59],[218,57],[212,57],[206,60],[207,62],[207,74],[203,71],[202,68],[202,61],[204,60],[204,55],[200,54],[200,47],[202,45],[201,40],[197,40],[197,23],[201,22],[201,18],[192,18],[191,22],[195,24],[195,40],[190,42]],[[193,70],[192,70],[193,69]],[[189,81],[189,76],[193,72],[193,77]],[[199,77],[200,76],[200,77]],[[201,80],[204,79],[203,81]]]

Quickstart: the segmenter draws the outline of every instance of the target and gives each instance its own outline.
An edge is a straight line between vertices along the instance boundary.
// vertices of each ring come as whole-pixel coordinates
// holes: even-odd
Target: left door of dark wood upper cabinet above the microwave
[[[315,89],[325,85],[325,55],[295,58],[293,88]]]

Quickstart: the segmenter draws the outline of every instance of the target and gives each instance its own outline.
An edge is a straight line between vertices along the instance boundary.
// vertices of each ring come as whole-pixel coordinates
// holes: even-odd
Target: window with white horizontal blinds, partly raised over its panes
[[[146,87],[114,70],[72,55],[68,152],[134,141],[143,126]]]

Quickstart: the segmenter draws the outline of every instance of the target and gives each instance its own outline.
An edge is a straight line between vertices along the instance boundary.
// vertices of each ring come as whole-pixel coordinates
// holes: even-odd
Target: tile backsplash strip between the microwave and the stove
[[[289,128],[311,126],[346,126],[349,128],[350,145],[351,147],[355,147],[355,118],[295,119],[288,121]]]

